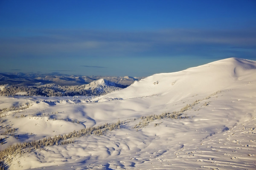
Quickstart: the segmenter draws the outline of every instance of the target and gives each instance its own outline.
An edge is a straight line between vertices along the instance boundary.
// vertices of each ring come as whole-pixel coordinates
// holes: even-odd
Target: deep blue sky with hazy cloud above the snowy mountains
[[[256,60],[256,0],[0,0],[0,72],[149,76]]]

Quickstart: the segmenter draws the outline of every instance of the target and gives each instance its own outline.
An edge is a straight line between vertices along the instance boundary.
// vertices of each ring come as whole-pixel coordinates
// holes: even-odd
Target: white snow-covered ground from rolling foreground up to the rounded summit
[[[93,99],[0,96],[3,108],[2,153],[18,142],[120,121],[70,144],[5,153],[10,170],[256,169],[256,61],[229,58],[154,74]],[[166,112],[181,115],[149,117]]]

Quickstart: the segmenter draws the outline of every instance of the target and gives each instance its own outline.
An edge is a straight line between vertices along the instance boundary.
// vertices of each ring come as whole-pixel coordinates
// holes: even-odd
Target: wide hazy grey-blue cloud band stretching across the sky
[[[159,57],[256,54],[256,29],[158,31],[32,30],[28,37],[3,37],[0,55],[60,57]],[[35,36],[35,34],[37,36]],[[234,49],[233,47],[239,47]],[[83,67],[104,68],[84,65]]]

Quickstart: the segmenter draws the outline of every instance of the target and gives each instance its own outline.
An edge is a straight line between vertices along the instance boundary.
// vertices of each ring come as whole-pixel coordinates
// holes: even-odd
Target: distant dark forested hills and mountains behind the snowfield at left
[[[137,77],[66,74],[0,74],[0,96],[101,96],[140,80]]]

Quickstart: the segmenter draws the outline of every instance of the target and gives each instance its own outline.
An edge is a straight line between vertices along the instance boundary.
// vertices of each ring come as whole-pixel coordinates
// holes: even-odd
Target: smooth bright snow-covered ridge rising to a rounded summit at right
[[[185,96],[210,94],[230,88],[235,82],[241,80],[242,76],[253,73],[256,73],[255,61],[239,58],[222,59],[175,73],[154,74],[134,82],[128,88],[95,100],[169,95],[175,101]],[[255,77],[255,74],[253,76]]]

